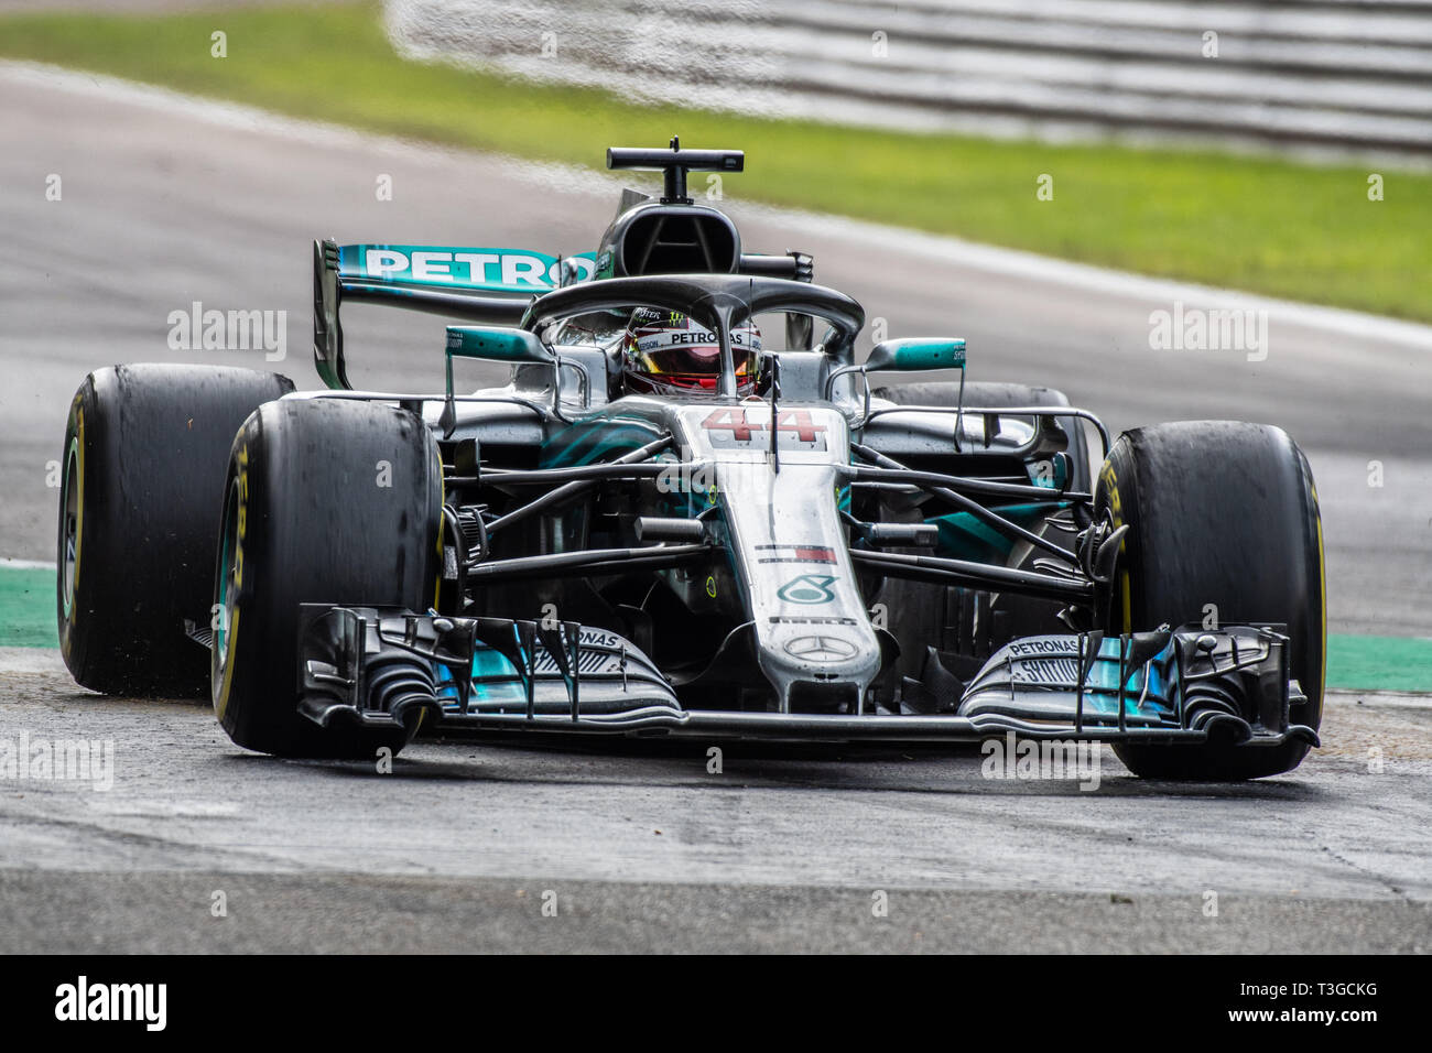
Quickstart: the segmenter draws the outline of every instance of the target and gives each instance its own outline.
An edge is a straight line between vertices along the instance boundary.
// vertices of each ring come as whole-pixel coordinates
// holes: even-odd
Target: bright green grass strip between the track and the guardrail
[[[0,56],[590,166],[603,163],[610,145],[660,145],[679,132],[692,146],[748,152],[749,170],[726,181],[730,196],[1432,319],[1428,173],[1383,170],[1386,199],[1369,202],[1366,166],[852,130],[637,106],[599,90],[404,62],[378,19],[368,4],[9,16],[0,19]],[[211,33],[219,29],[228,34],[225,59],[209,54]],[[1054,201],[1035,199],[1040,173],[1054,176]],[[593,218],[594,235],[600,222]]]

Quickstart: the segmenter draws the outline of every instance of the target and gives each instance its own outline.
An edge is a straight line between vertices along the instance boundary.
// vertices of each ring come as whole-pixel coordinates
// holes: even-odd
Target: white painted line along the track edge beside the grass
[[[576,165],[521,160],[503,155],[478,153],[475,150],[420,143],[394,136],[371,135],[341,125],[299,120],[253,106],[203,99],[166,87],[155,87],[153,85],[142,85],[99,73],[83,73],[46,63],[0,60],[0,80],[99,96],[212,125],[281,136],[305,145],[358,146],[384,153],[397,153],[410,162],[418,163],[431,162],[435,158],[470,158],[474,163],[481,162],[487,165],[495,162],[514,178],[560,189],[566,193],[609,196],[613,186],[620,185],[620,182],[629,182]],[[858,135],[858,132],[852,130],[852,135]],[[851,241],[866,242],[885,249],[895,246],[911,255],[921,255],[934,261],[987,271],[990,274],[1011,275],[1035,282],[1050,282],[1130,299],[1153,299],[1160,302],[1191,301],[1207,307],[1217,305],[1267,311],[1270,321],[1360,340],[1385,340],[1432,351],[1432,325],[1421,325],[1398,318],[1385,318],[1382,315],[1319,307],[1315,304],[1299,304],[1167,278],[1150,278],[1093,266],[1090,264],[1051,259],[1018,249],[981,245],[945,235],[849,219],[846,216],[765,205],[742,203],[740,208],[755,216],[795,228],[819,229],[825,234],[833,232]]]

